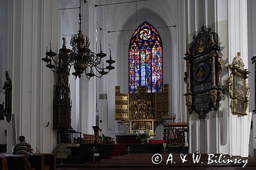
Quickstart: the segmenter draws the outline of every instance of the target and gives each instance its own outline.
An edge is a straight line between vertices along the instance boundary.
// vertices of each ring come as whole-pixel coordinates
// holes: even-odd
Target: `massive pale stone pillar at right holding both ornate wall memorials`
[[[205,1],[191,0],[185,2],[186,8],[186,44],[193,41],[192,37],[205,25],[217,32],[221,42],[221,55],[224,64],[228,66],[241,52],[245,68],[248,68],[247,56],[247,1]],[[223,65],[224,66],[224,65]],[[223,67],[222,84],[228,89],[229,70]],[[202,147],[203,153],[223,153],[248,156],[248,125],[249,115],[241,116],[231,113],[229,93],[224,91],[218,112],[210,111],[205,121],[198,120],[194,115],[188,115],[190,153]],[[227,144],[222,144],[223,113],[228,108]],[[193,113],[194,114],[194,113]],[[210,146],[210,147],[208,147]]]

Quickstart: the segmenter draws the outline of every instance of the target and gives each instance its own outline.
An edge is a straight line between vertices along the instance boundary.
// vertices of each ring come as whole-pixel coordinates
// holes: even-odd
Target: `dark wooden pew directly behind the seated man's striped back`
[[[25,155],[9,155],[6,156],[8,170],[35,170],[30,166],[28,156]]]

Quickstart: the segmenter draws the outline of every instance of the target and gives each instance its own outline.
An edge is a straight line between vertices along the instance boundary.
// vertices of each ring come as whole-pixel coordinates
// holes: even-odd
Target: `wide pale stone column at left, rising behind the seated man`
[[[24,135],[34,150],[37,147],[41,152],[51,152],[56,145],[56,133],[51,128],[53,74],[41,58],[45,57],[45,46],[50,39],[57,44],[58,3],[52,0],[9,3],[13,16],[9,25],[12,32],[9,45],[13,49],[9,69],[12,70],[12,113],[17,123],[15,138]],[[56,51],[55,44],[53,51]],[[10,134],[8,131],[8,144],[12,143]],[[10,145],[7,152],[12,152]]]

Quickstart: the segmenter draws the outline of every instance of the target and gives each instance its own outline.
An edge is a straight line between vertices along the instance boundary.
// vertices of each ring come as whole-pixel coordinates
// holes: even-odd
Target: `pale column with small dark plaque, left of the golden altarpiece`
[[[104,4],[104,3],[102,3]],[[112,18],[109,18],[109,8],[106,7],[97,7],[97,21],[102,30],[99,30],[98,33],[98,44],[102,42],[103,53],[106,54],[106,57],[103,58],[104,67],[108,65],[106,60],[109,60],[110,48],[112,51],[112,59],[116,61],[116,47],[113,40],[113,34],[109,34],[110,28],[112,28]],[[98,45],[99,46],[99,45]],[[98,100],[99,106],[99,116],[102,120],[102,123],[99,123],[102,127],[102,134],[106,136],[115,136],[116,126],[115,126],[115,85],[116,79],[112,77],[115,74],[117,69],[116,63],[113,64],[115,67],[114,70],[111,70],[108,75],[102,76],[98,80],[98,94],[106,94],[107,98],[103,100]],[[99,96],[97,96],[98,98]]]

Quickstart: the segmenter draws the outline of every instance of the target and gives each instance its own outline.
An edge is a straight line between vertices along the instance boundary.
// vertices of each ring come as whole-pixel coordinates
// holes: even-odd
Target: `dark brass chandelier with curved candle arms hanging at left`
[[[92,52],[89,48],[90,42],[89,38],[84,37],[81,31],[81,1],[79,7],[79,30],[78,34],[75,34],[71,37],[70,45],[72,50],[66,48],[66,38],[63,37],[62,48],[59,49],[59,54],[57,55],[52,51],[51,45],[52,41],[50,40],[50,51],[48,47],[46,48],[46,57],[42,58],[42,61],[47,63],[46,67],[50,68],[55,73],[65,73],[70,75],[70,69],[74,65],[75,72],[72,72],[72,75],[78,78],[81,77],[83,72],[86,72],[87,78],[90,80],[91,77],[101,77],[109,73],[110,70],[115,67],[112,66],[115,63],[111,57],[110,49],[110,58],[106,60],[108,65],[104,67],[101,59],[106,56],[102,52],[102,42],[100,42],[100,53],[96,54]],[[57,57],[55,57],[57,56]],[[98,72],[99,74],[96,74]]]

